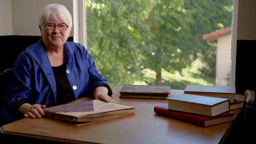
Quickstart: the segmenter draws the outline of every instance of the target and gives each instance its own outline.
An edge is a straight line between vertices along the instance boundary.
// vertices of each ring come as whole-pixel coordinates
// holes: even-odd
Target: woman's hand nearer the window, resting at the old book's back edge
[[[105,86],[99,86],[95,88],[92,92],[94,95],[95,100],[104,100],[105,102],[114,102],[116,103],[115,100],[113,100],[110,96],[108,96],[108,88]]]

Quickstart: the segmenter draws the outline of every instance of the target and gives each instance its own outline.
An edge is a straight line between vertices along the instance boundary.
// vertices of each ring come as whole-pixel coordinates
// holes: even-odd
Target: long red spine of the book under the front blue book
[[[157,113],[157,114],[168,116],[170,118],[175,118],[175,119],[178,119],[178,120],[182,120],[182,121],[185,121],[185,122],[190,122],[192,124],[196,124],[196,125],[205,127],[203,119],[188,116],[185,113],[170,111],[170,110],[167,110],[166,108],[161,108],[159,106],[154,107],[154,112]]]

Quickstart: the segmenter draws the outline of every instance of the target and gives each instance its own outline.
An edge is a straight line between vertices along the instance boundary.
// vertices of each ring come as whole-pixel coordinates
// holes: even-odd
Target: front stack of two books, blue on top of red
[[[228,98],[179,94],[167,100],[168,104],[155,106],[154,112],[204,127],[234,120]]]

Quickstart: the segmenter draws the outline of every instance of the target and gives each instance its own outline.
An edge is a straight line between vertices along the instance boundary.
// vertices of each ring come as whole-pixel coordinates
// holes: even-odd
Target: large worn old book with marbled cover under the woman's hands
[[[45,108],[44,112],[46,117],[78,124],[133,114],[135,108],[102,100],[90,100]]]

